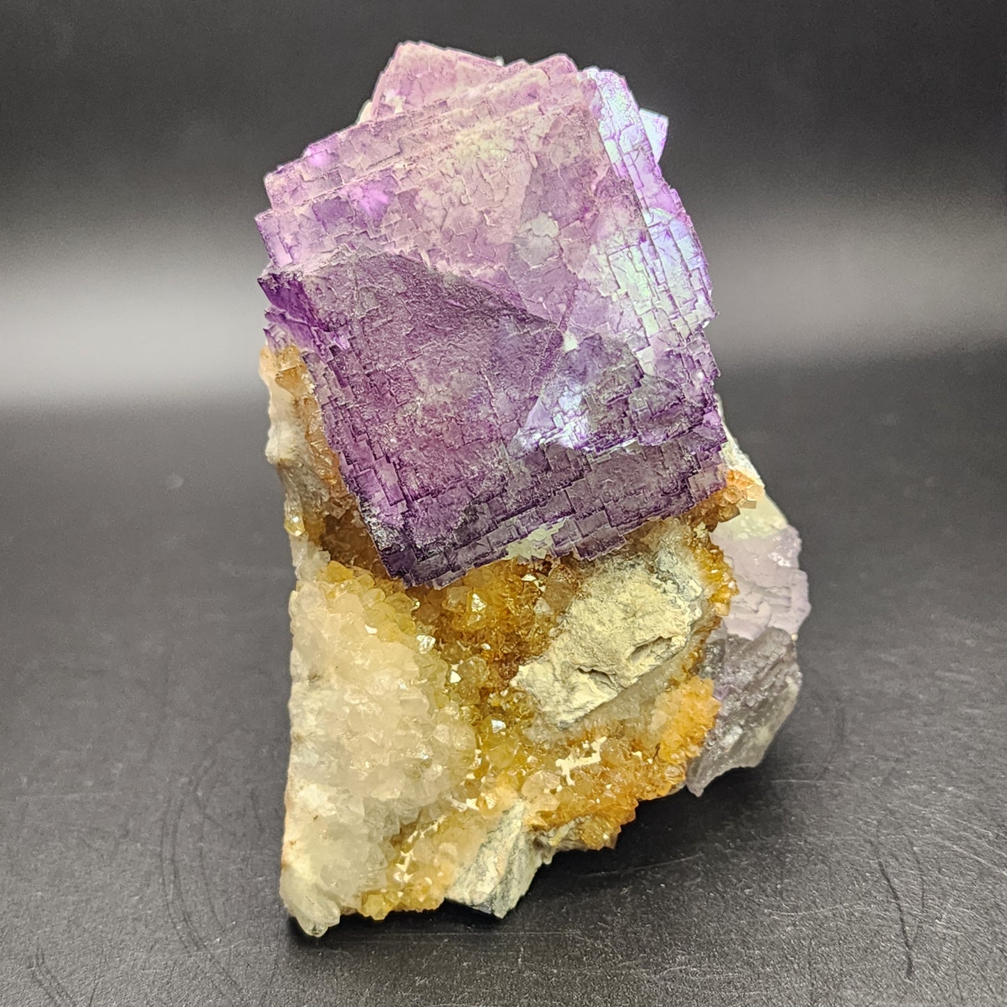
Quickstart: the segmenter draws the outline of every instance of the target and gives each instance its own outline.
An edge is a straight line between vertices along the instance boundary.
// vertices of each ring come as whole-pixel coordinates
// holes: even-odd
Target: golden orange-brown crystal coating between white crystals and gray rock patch
[[[535,702],[510,682],[523,662],[546,650],[589,565],[570,558],[498,560],[447,587],[405,588],[384,570],[345,489],[297,350],[264,349],[262,370],[267,383],[275,381],[292,397],[308,446],[309,471],[281,469],[288,532],[328,554],[325,581],[366,596],[401,632],[423,640],[445,694],[475,732],[474,758],[453,810],[429,820],[421,814],[388,840],[386,883],[364,894],[361,912],[381,918],[393,909],[435,907],[519,797],[527,808],[526,829],[548,834],[559,846],[598,848],[614,843],[639,801],[682,785],[718,709],[712,683],[695,669],[734,590],[730,567],[709,531],[751,498],[755,483],[732,471],[724,488],[689,515],[652,522],[623,547],[645,550],[674,526],[705,581],[706,614],[657,699],[634,718],[595,718],[590,727],[543,737],[531,730]]]

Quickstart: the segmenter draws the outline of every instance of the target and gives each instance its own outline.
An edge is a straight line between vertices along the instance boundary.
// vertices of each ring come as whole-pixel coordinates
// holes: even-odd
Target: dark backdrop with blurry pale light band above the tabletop
[[[0,399],[255,389],[262,175],[407,38],[669,115],[725,368],[1003,331],[1002,0],[0,0]]]

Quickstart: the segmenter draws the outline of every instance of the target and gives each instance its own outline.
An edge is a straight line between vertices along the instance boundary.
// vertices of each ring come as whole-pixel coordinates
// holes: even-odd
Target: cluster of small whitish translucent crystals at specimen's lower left
[[[388,841],[444,806],[475,736],[380,603],[301,582],[290,603],[291,752],[282,893],[309,930],[380,888]],[[372,624],[375,623],[375,624]],[[322,882],[319,884],[319,881]]]

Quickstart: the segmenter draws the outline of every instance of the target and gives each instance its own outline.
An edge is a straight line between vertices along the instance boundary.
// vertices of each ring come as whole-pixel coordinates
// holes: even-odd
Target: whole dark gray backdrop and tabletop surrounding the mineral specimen
[[[1007,1001],[1000,3],[0,9],[0,1002]],[[261,175],[401,38],[565,50],[671,116],[728,417],[802,530],[762,766],[502,922],[294,933]]]

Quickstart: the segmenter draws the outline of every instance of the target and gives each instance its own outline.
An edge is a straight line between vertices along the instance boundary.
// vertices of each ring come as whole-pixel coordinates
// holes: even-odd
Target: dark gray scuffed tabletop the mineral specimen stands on
[[[0,1001],[1007,1003],[1005,383],[995,346],[726,375],[814,603],[763,764],[641,807],[502,921],[320,941],[276,894],[264,398],[3,414]]]

